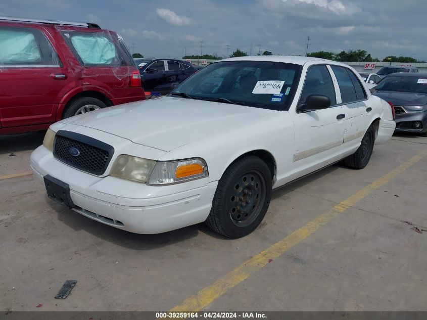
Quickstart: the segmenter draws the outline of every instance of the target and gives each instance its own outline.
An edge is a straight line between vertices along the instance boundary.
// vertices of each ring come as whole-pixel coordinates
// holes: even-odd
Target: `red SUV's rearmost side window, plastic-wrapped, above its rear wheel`
[[[63,36],[84,66],[127,65],[109,32],[65,31]]]

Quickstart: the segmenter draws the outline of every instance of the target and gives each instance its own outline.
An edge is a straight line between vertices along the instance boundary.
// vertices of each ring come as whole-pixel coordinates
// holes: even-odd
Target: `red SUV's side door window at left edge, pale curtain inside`
[[[59,66],[44,34],[36,29],[0,27],[0,66]]]

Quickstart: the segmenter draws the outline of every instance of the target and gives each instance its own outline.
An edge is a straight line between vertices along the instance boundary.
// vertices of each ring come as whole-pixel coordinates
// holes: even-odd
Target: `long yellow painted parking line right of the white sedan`
[[[282,255],[284,252],[286,252],[287,250],[289,250],[290,248],[313,234],[321,226],[325,225],[326,223],[337,217],[340,213],[354,206],[358,201],[365,198],[372,191],[387,184],[391,179],[414,165],[426,155],[427,150],[418,153],[416,156],[402,163],[397,168],[376,179],[365,188],[359,190],[346,200],[340,202],[335,207],[324,212],[314,220],[308,222],[303,227],[294,231],[289,236],[283,238],[279,242],[273,244],[271,247],[258,253],[253,258],[236,267],[227,275],[215,281],[209,287],[202,289],[194,296],[189,297],[181,304],[173,307],[170,311],[200,311],[203,308],[207,307],[209,304],[211,304],[214,300],[218,299],[228,290],[232,289],[242,281],[248,279],[254,272],[264,267],[268,263],[269,259],[274,259]]]

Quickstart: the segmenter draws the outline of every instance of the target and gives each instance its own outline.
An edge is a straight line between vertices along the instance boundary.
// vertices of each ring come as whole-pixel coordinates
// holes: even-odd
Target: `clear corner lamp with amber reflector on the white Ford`
[[[170,185],[208,176],[208,166],[201,158],[157,162],[148,185]]]

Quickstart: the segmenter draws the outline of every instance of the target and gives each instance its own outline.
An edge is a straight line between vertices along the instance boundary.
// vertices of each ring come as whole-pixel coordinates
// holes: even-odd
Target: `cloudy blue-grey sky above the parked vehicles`
[[[6,2],[7,0],[1,0]],[[427,60],[426,0],[14,0],[0,15],[89,21],[146,57],[363,49]],[[184,49],[185,48],[185,49]]]

